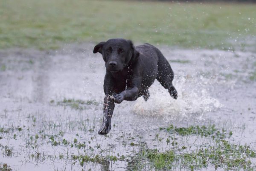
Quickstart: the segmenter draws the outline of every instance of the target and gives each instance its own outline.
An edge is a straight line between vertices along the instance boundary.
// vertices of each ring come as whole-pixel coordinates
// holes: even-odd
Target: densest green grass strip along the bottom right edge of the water
[[[216,140],[216,146],[208,146],[192,152],[166,151],[157,149],[144,149],[144,160],[149,160],[156,169],[189,168],[202,169],[209,165],[227,170],[245,169],[253,170],[250,158],[256,154],[249,146],[231,144],[226,140]],[[149,164],[150,164],[149,163]]]

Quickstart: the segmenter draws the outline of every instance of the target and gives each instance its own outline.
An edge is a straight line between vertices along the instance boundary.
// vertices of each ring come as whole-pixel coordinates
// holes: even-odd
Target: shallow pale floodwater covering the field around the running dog
[[[163,142],[155,137],[159,127],[170,124],[215,124],[232,130],[234,143],[256,149],[256,81],[251,80],[256,53],[160,47],[175,72],[178,99],[155,81],[147,102],[139,98],[116,104],[111,132],[100,136],[105,66],[92,49],[86,44],[58,51],[0,52],[0,128],[8,130],[0,132],[0,163],[13,170],[125,170],[131,167],[125,160],[81,166],[70,158],[72,154],[127,156],[140,148],[131,143],[169,149],[165,135],[160,135]],[[96,103],[77,109],[62,103],[64,99]],[[71,148],[75,138],[85,147]],[[64,145],[63,139],[69,144]],[[53,145],[54,141],[61,143]],[[195,141],[204,140],[191,137],[181,144],[193,149]]]

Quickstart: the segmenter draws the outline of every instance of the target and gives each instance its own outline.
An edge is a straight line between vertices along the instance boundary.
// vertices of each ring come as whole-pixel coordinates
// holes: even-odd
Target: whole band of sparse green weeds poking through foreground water
[[[71,102],[73,100],[65,99],[63,101],[63,103]],[[32,127],[37,123],[35,117],[29,117],[28,119]],[[56,129],[60,128],[60,126],[61,124],[53,124],[51,128]],[[126,154],[115,153],[116,147],[114,144],[104,148],[101,147],[101,144],[92,144],[92,141],[95,141],[96,138],[94,134],[86,134],[87,138],[85,140],[81,139],[77,133],[71,139],[70,135],[66,136],[63,130],[57,129],[55,134],[47,134],[42,130],[33,135],[26,134],[28,136],[26,137],[24,132],[26,129],[29,130],[28,127],[20,126],[1,127],[0,135],[3,138],[13,135],[15,136],[15,141],[21,137],[25,138],[26,148],[32,150],[31,153],[28,153],[27,161],[64,160],[72,163],[72,165],[77,164],[81,167],[88,163],[109,165],[110,162],[118,164],[120,161],[125,161],[128,170],[198,170],[203,168],[253,170],[256,167],[256,163],[253,163],[256,158],[256,151],[247,144],[231,143],[230,138],[233,133],[225,129],[216,128],[215,125],[188,127],[170,125],[166,128],[160,128],[160,131],[155,136],[156,139],[153,141],[148,140],[147,142],[140,141],[140,138],[136,139],[131,134],[120,134],[116,142],[122,144],[123,148],[130,148],[127,156]],[[83,134],[84,132],[81,133]],[[107,136],[103,138],[107,138]],[[199,144],[194,142],[185,146],[182,142],[186,138],[198,139],[200,137],[204,143],[199,140]],[[164,140],[167,143],[166,147],[162,146],[163,144],[157,149],[154,149],[156,146],[153,148],[148,147],[154,141],[165,144]],[[128,146],[124,143],[128,144]],[[49,144],[54,149],[62,147],[65,150],[59,151],[60,153],[55,155],[48,155],[45,151],[38,150],[41,149],[39,146],[42,144]],[[5,157],[17,156],[17,151],[14,152],[13,147],[0,144],[0,148]],[[77,151],[77,153],[70,153],[71,149],[73,149],[72,151]],[[1,165],[1,167],[3,166]]]

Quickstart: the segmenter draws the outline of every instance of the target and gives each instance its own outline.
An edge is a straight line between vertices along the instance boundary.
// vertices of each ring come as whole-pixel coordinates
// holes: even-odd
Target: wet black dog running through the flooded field
[[[130,40],[109,39],[94,47],[93,53],[97,52],[102,54],[107,69],[104,80],[104,118],[99,134],[108,134],[111,129],[114,103],[135,101],[140,96],[147,101],[148,87],[156,78],[177,99],[177,91],[172,85],[172,68],[153,45],[146,43],[134,48]]]

